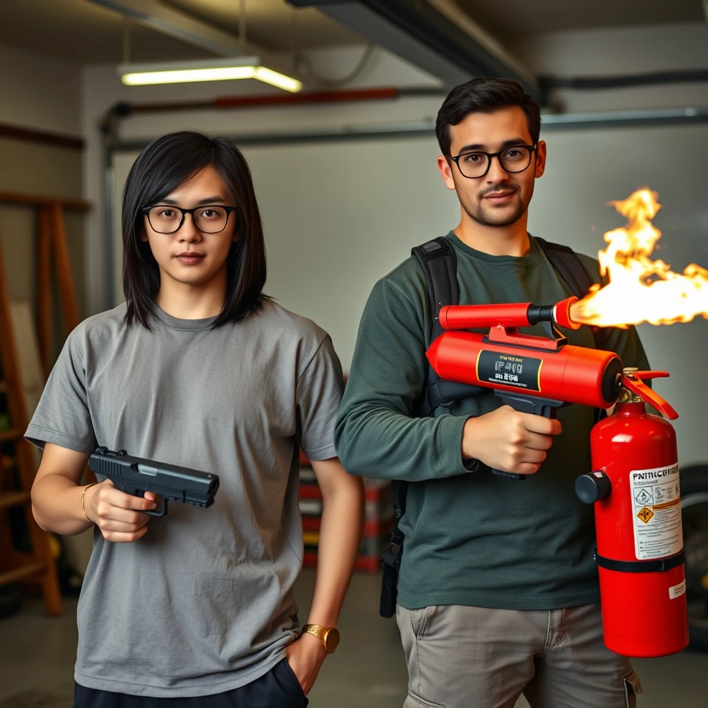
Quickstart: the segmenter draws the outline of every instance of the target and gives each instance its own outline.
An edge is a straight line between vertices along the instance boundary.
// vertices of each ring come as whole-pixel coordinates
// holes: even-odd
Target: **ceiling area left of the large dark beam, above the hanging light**
[[[238,35],[239,0],[164,0],[161,4]],[[246,0],[246,37],[273,52],[364,41],[319,11],[295,10],[285,0]],[[89,0],[0,0],[0,44],[74,64],[118,64],[123,59],[123,19]],[[132,62],[213,56],[156,30],[130,25]]]

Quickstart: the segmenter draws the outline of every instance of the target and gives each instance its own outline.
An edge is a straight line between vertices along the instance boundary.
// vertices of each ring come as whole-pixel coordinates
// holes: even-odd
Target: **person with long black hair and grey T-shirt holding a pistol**
[[[362,532],[361,480],[333,445],[341,367],[323,330],[263,295],[261,217],[227,139],[154,141],[122,216],[126,303],[69,335],[27,430],[44,450],[39,525],[93,527],[74,707],[302,707],[336,649]],[[218,474],[214,505],[148,523],[154,495],[79,484],[98,445]],[[298,447],[323,496],[302,636]]]

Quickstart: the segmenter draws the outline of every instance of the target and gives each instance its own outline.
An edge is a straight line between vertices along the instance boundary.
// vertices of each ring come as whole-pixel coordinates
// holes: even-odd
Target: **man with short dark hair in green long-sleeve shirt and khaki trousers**
[[[539,129],[539,106],[506,79],[467,81],[440,108],[438,169],[462,206],[447,234],[460,304],[573,295],[526,230],[546,167]],[[597,263],[581,259],[599,282]],[[404,708],[511,708],[522,693],[534,708],[633,706],[641,689],[629,659],[603,644],[593,510],[573,489],[590,471],[593,410],[549,420],[486,390],[418,417],[430,310],[416,258],[377,282],[335,438],[348,472],[409,481],[396,607]],[[586,326],[564,334],[595,346]],[[607,331],[603,346],[648,367],[632,328]]]

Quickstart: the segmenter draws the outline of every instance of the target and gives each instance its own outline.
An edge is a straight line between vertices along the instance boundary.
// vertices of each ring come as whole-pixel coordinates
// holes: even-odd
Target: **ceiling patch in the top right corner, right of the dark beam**
[[[455,0],[498,38],[705,21],[703,0]]]

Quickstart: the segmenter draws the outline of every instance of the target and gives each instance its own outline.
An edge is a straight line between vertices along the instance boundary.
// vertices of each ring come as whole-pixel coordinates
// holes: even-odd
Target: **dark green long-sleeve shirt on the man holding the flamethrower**
[[[455,247],[460,304],[552,304],[573,295],[535,239],[526,256],[489,256],[447,236]],[[597,263],[581,256],[599,282]],[[593,509],[573,484],[590,471],[593,410],[558,411],[563,433],[554,437],[537,474],[523,482],[468,472],[462,428],[469,416],[501,406],[493,392],[439,408],[434,418],[413,416],[426,381],[426,333],[431,315],[423,269],[409,258],[379,280],[362,315],[339,410],[335,442],[352,474],[406,479],[406,536],[398,601],[551,609],[597,602]],[[525,331],[543,334],[542,329]],[[564,331],[569,343],[594,347],[586,326]],[[428,334],[429,336],[429,334]],[[625,366],[649,367],[634,328],[611,330],[606,348]]]

